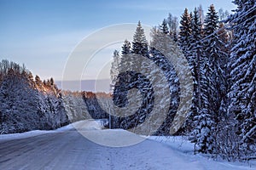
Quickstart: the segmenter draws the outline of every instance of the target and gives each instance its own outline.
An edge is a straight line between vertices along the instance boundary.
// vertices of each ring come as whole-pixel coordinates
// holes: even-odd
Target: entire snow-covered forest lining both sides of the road
[[[71,92],[61,90],[53,78],[43,81],[33,77],[24,65],[0,62],[0,133],[21,133],[35,129],[55,129],[84,119],[109,118],[111,128],[132,129],[145,122],[154,110],[156,92],[153,82],[166,79],[169,94],[161,94],[158,102],[172,99],[165,120],[154,135],[170,135],[172,122],[184,120],[173,135],[189,136],[195,153],[210,154],[228,161],[255,159],[256,153],[256,21],[255,0],[236,0],[236,10],[227,14],[216,11],[213,5],[204,15],[201,7],[194,11],[185,8],[180,20],[169,14],[160,26],[151,31],[148,42],[141,22],[138,22],[133,41],[124,40],[121,51],[113,52],[110,71],[113,94]],[[176,49],[179,50],[176,50]],[[166,54],[183,55],[169,63]],[[154,62],[164,71],[164,77],[154,77]],[[178,74],[174,66],[181,67]],[[139,67],[139,68],[137,68]],[[137,72],[142,69],[145,72]],[[131,71],[130,71],[131,70]],[[136,70],[136,71],[132,71]],[[148,73],[144,76],[143,73]],[[190,72],[193,84],[192,99],[186,117],[177,115],[183,97],[180,80]],[[153,82],[150,82],[153,80]],[[134,94],[128,91],[136,88]],[[135,96],[140,104],[133,115],[109,116],[113,112],[110,100],[119,107],[128,104],[127,95]],[[169,96],[167,96],[169,95]],[[158,105],[159,114],[165,106]],[[131,108],[131,110],[134,108]],[[157,117],[154,117],[157,121]],[[154,120],[152,120],[154,121]],[[148,127],[151,128],[151,127]],[[175,128],[175,127],[174,127]],[[142,129],[146,131],[148,129]]]

